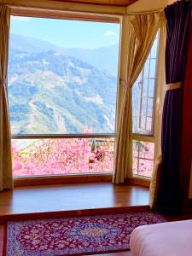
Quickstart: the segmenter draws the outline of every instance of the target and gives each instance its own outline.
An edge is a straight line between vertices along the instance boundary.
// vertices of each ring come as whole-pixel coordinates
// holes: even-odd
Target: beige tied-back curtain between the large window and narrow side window
[[[128,15],[124,22],[128,34],[126,49],[126,79],[120,80],[118,109],[118,124],[115,149],[115,172],[113,183],[124,183],[131,177],[132,170],[132,113],[131,88],[141,73],[144,62],[154,42],[154,38],[161,23],[163,13],[150,13],[142,15]]]

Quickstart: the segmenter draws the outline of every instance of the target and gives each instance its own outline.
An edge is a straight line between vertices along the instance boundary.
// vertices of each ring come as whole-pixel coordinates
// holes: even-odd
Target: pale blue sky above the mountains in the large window
[[[10,33],[67,48],[96,49],[119,43],[119,24],[115,23],[12,16]]]

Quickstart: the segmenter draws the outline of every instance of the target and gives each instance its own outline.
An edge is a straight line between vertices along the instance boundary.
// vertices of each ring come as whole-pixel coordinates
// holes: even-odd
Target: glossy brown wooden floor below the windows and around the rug
[[[77,214],[130,212],[148,209],[148,189],[136,185],[79,183],[15,188],[0,192],[0,222]],[[3,224],[0,224],[0,256]],[[100,254],[128,256],[130,252]]]

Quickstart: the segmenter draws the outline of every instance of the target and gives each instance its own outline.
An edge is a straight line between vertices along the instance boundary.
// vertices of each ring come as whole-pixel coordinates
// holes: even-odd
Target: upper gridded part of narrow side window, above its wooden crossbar
[[[156,85],[156,61],[159,33],[144,64],[143,71],[132,88],[132,132],[154,134],[154,102]]]

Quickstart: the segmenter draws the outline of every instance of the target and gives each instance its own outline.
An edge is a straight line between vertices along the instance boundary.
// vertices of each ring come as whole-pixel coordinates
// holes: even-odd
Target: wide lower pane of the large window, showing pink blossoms
[[[113,152],[113,138],[13,139],[13,174],[113,172]]]

